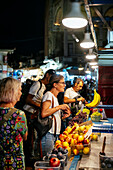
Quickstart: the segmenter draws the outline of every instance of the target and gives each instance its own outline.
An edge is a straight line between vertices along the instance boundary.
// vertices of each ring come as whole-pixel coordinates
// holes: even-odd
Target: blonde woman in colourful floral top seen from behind
[[[0,169],[24,170],[23,139],[27,140],[27,121],[23,111],[15,109],[21,96],[21,82],[7,77],[0,82]]]

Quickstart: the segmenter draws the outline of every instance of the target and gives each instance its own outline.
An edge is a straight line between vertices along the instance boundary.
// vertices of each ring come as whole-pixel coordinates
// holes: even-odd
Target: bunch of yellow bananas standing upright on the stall
[[[86,104],[87,107],[96,107],[100,103],[100,95],[96,92],[96,89],[94,89],[94,99],[91,103]]]

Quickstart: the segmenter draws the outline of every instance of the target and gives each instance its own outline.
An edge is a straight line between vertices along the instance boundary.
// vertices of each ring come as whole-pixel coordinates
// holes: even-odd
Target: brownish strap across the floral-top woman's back
[[[6,121],[9,120],[11,115],[16,111],[16,108],[10,108],[6,115],[3,116],[3,120],[0,122],[0,126],[2,126]]]

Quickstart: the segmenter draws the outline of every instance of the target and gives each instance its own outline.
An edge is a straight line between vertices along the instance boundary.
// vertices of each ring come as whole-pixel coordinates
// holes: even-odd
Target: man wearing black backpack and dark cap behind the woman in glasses
[[[24,144],[24,152],[26,155],[26,164],[29,162],[30,158],[34,156],[34,145],[36,133],[33,127],[33,119],[40,110],[41,100],[43,94],[46,90],[46,85],[49,84],[50,77],[55,74],[55,70],[49,69],[44,74],[44,77],[41,80],[38,80],[33,83],[30,87],[29,94],[26,99],[26,104],[23,109],[26,113],[27,121],[28,121],[28,140]],[[35,133],[35,135],[34,135]]]

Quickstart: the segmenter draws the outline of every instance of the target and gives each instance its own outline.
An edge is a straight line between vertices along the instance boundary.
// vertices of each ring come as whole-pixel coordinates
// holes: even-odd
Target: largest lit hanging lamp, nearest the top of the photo
[[[72,2],[70,12],[62,20],[65,27],[78,29],[85,27],[88,21],[80,11],[80,2]]]

